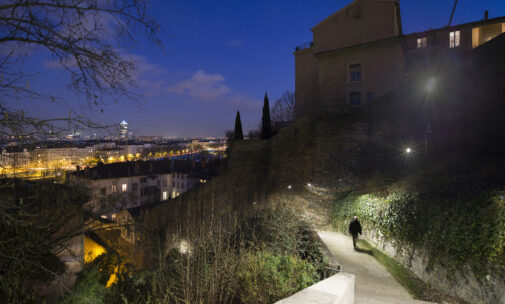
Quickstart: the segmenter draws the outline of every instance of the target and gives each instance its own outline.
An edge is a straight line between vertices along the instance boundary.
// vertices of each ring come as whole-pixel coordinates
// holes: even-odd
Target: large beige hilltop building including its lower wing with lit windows
[[[436,76],[505,32],[505,17],[404,35],[398,0],[355,0],[312,28],[296,47],[295,119],[314,110],[362,105],[407,77]]]

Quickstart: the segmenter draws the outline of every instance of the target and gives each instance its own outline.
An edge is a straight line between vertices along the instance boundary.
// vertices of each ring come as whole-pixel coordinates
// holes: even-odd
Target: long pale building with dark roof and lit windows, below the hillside
[[[88,209],[115,220],[120,210],[148,206],[181,195],[206,181],[208,172],[200,163],[158,160],[100,165],[74,172],[69,178],[91,190]]]

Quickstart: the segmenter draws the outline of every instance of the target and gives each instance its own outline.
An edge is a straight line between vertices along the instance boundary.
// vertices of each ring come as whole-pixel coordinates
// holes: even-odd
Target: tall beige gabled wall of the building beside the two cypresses
[[[313,45],[295,51],[295,119],[315,109],[360,103],[396,87],[403,77],[401,18],[396,0],[356,0],[317,24]],[[360,64],[351,81],[349,67]]]

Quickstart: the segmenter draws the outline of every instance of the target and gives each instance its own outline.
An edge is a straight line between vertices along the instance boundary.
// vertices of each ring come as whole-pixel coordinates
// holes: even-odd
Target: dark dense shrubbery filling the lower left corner
[[[65,270],[56,254],[82,230],[85,192],[21,180],[0,181],[0,296],[26,302]]]

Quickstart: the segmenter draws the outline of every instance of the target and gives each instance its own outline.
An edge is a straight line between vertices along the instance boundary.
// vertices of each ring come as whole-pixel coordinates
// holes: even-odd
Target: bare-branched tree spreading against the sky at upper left
[[[71,120],[85,127],[98,127],[72,109],[69,117],[35,119],[13,111],[9,99],[49,100],[67,105],[52,93],[36,91],[30,81],[37,74],[26,72],[23,62],[34,52],[49,52],[51,64],[70,75],[68,89],[99,110],[105,96],[134,98],[135,63],[124,49],[139,37],[161,46],[158,24],[146,14],[147,0],[4,0],[0,3],[0,136],[26,136],[57,132]],[[21,68],[20,68],[21,67]],[[68,124],[70,125],[70,124]]]

